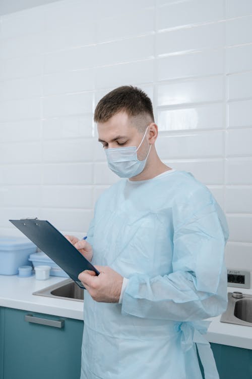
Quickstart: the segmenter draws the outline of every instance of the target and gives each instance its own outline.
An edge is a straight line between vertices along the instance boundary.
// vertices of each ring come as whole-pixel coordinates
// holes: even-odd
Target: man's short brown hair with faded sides
[[[95,108],[94,121],[106,122],[120,111],[125,111],[128,116],[149,115],[154,122],[150,98],[133,85],[122,85],[108,92]]]

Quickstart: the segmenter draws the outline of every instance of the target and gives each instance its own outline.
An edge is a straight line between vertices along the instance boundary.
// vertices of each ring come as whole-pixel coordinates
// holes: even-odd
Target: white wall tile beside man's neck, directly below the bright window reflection
[[[223,133],[190,133],[159,136],[156,149],[161,159],[191,159],[223,157]]]

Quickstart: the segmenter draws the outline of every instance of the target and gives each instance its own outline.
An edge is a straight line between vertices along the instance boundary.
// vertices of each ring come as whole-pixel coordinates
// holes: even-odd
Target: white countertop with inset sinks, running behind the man
[[[83,302],[32,295],[35,291],[63,280],[66,278],[50,276],[47,280],[36,280],[34,275],[27,278],[18,275],[0,275],[0,307],[83,320]],[[228,287],[228,292],[233,291],[252,295],[252,289]],[[216,344],[252,350],[252,326],[220,322],[220,317],[209,318],[212,322],[206,335],[207,340]]]

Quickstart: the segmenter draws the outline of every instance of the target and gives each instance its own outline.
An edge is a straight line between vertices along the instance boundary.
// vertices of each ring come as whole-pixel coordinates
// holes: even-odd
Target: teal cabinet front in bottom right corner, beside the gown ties
[[[210,345],[220,379],[252,379],[252,350],[213,343]],[[203,374],[202,366],[201,371]],[[202,376],[204,378],[204,374]]]

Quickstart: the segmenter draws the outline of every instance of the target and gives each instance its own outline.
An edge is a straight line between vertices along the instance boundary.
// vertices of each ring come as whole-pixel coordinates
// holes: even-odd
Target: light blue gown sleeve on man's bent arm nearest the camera
[[[218,203],[208,189],[200,188],[186,201],[178,199],[172,212],[172,272],[152,277],[132,273],[122,297],[122,314],[192,321],[226,309],[228,228]]]

